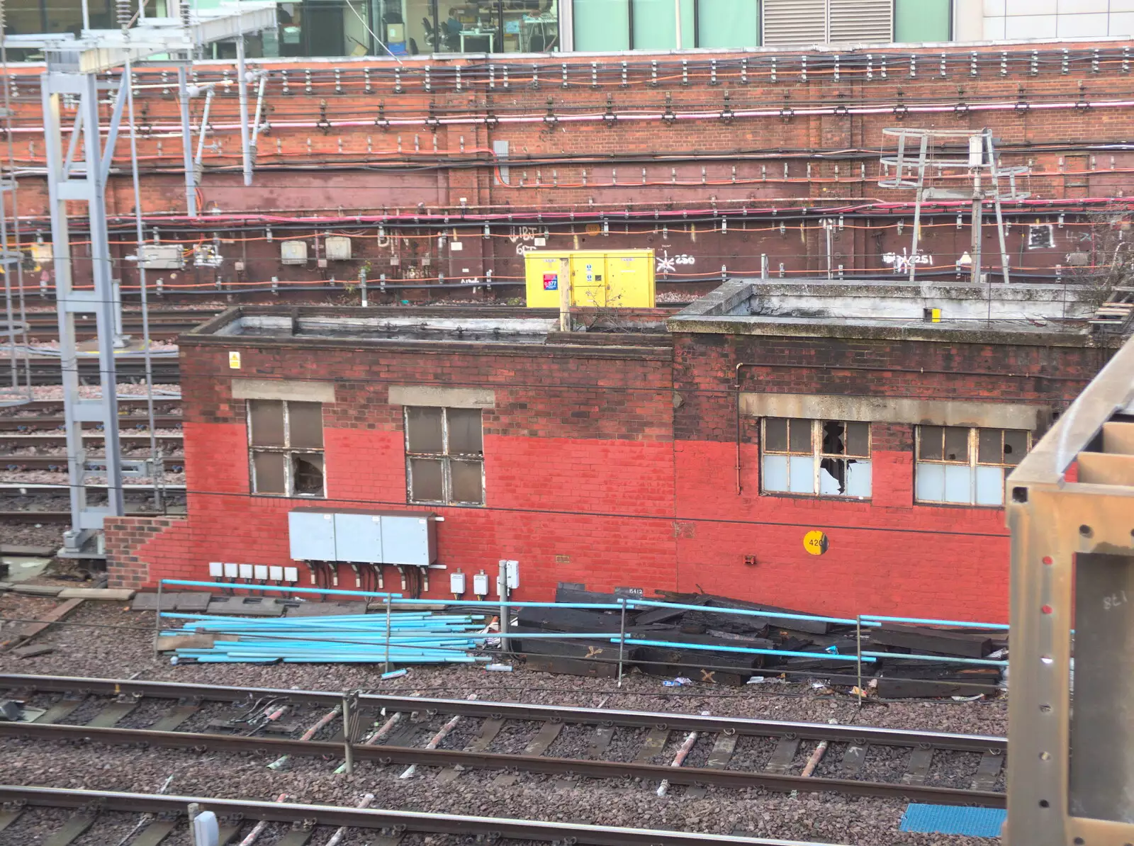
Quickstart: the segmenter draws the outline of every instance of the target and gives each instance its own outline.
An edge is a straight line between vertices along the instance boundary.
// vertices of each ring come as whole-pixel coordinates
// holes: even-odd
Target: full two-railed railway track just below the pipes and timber
[[[0,722],[0,736],[10,738],[248,752],[269,761],[337,760],[348,742],[332,714],[341,713],[344,696],[332,692],[19,675],[0,676],[0,690],[37,709],[31,721]],[[281,708],[287,720],[265,717]],[[694,796],[708,787],[763,788],[1005,806],[996,789],[1007,753],[1001,737],[376,694],[358,694],[353,710],[355,761],[440,768],[445,782],[469,769],[503,770],[666,781]],[[327,720],[320,734],[297,738],[320,719]],[[464,747],[435,741],[445,726],[466,720],[475,730],[465,726],[462,736],[471,739]],[[130,722],[137,727],[125,727]],[[688,744],[693,765],[672,765],[675,744]],[[827,758],[816,768],[820,744]],[[500,746],[518,751],[494,751]],[[868,767],[871,758],[877,761]],[[813,775],[803,775],[809,760]],[[879,763],[888,780],[866,777],[880,772]],[[965,768],[965,787],[941,782],[956,784]]]

